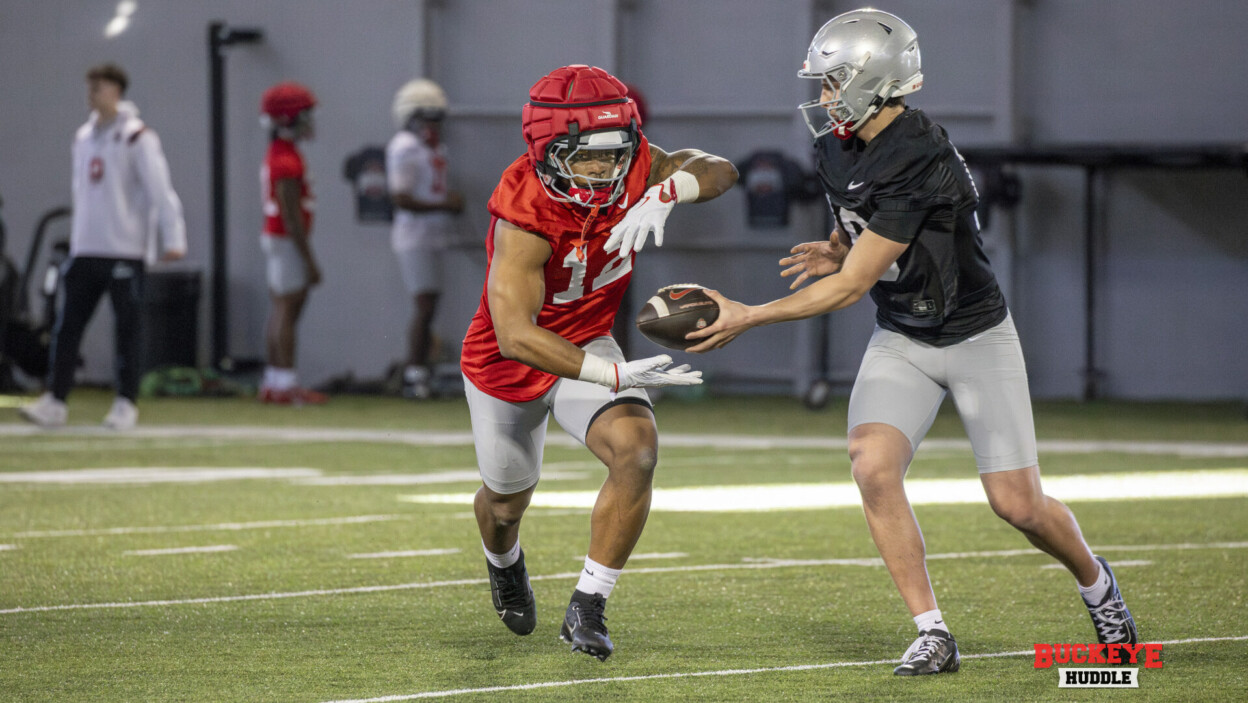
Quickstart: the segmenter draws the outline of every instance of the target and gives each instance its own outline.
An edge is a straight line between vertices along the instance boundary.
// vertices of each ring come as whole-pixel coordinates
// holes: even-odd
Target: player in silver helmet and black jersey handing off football
[[[690,351],[870,293],[876,327],[850,395],[849,451],[871,537],[919,629],[895,674],[956,672],[961,663],[904,486],[946,395],[993,512],[1071,572],[1098,642],[1134,644],[1136,622],[1109,564],[1041,487],[1027,370],[983,253],[975,181],[945,129],[906,105],[924,85],[915,31],[879,10],[839,15],[815,34],[797,75],[819,81],[819,97],[799,107],[836,227],[780,260],[781,276],[796,276],[792,288],[810,286],[760,306],[713,292],[719,320],[689,335],[703,340]]]

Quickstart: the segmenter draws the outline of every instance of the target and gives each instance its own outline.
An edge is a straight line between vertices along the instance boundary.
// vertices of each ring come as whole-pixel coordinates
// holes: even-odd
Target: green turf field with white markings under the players
[[[768,503],[851,481],[835,443],[844,402],[659,403],[656,508],[608,607],[605,663],[557,639],[588,544],[580,496],[604,476],[559,430],[538,491],[552,507],[535,503],[522,533],[539,624],[519,638],[493,613],[461,501],[478,484],[472,447],[454,442],[462,401],[152,400],[121,436],[92,428],[109,402],[76,393],[77,425],[46,433],[0,408],[0,701],[1248,699],[1238,405],[1037,405],[1055,486],[1161,486],[1068,499],[1118,564],[1143,639],[1167,643],[1138,689],[1106,692],[1058,688],[1056,669],[1022,654],[1094,639],[1092,626],[1071,577],[986,504],[929,496],[930,479],[973,483],[970,450],[948,441],[921,451],[910,478],[912,497],[932,497],[915,512],[962,671],[891,676],[914,624],[861,509]],[[759,437],[775,440],[748,442]],[[931,437],[960,438],[956,416]],[[1222,494],[1169,497],[1206,484]],[[710,488],[769,509],[705,509]],[[659,509],[660,494],[688,503]]]

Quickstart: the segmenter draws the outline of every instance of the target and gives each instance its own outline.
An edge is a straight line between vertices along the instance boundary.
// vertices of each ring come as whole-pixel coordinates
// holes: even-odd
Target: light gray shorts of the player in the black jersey
[[[946,393],[953,396],[980,473],[1040,463],[1027,368],[1008,316],[948,347],[876,327],[850,393],[850,430],[891,425],[917,450]]]

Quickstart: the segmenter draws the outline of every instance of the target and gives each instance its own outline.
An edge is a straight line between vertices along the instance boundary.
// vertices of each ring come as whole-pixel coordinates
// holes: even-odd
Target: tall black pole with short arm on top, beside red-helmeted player
[[[226,236],[226,60],[231,44],[255,44],[265,37],[258,29],[208,25],[208,109],[211,110],[210,167],[212,169],[212,366],[230,358],[230,276]]]

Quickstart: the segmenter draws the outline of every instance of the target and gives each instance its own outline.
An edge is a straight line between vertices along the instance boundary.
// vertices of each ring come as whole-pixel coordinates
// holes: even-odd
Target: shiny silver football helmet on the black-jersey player
[[[810,134],[849,139],[886,100],[922,87],[919,37],[896,15],[871,9],[845,12],[815,32],[797,75],[820,81],[832,96],[797,106]]]

